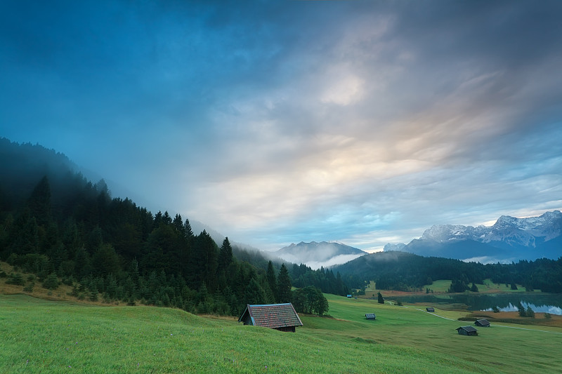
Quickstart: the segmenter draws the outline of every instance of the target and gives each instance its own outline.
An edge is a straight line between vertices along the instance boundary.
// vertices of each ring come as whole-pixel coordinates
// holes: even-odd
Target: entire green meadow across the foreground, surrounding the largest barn
[[[466,337],[455,328],[469,323],[417,307],[326,296],[334,318],[301,316],[304,327],[281,333],[178,309],[0,295],[0,372],[562,372],[561,328],[492,326]]]

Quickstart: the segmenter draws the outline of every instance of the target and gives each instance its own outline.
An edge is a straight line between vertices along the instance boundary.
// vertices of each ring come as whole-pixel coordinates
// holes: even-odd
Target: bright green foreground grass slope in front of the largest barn
[[[312,320],[305,323],[312,327]],[[360,331],[342,331],[338,321],[315,320],[332,325],[280,333],[177,309],[99,307],[0,295],[0,372],[492,372],[450,354],[370,344],[360,338]],[[338,326],[345,329],[347,323]]]

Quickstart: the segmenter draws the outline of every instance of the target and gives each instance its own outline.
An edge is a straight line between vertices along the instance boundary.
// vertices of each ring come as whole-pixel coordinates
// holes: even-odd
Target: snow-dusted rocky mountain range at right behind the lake
[[[482,263],[556,259],[562,255],[562,213],[530,218],[502,215],[492,226],[433,225],[421,238],[408,244],[388,243],[384,251]]]

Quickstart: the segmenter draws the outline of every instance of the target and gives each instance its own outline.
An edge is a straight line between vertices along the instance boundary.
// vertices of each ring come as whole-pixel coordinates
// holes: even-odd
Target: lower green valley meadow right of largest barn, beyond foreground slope
[[[447,352],[456,356],[462,365],[478,363],[482,370],[562,372],[561,328],[492,322],[494,326],[490,328],[478,328],[478,336],[466,337],[455,331],[460,326],[472,325],[472,322],[456,321],[466,315],[465,312],[436,309],[439,316],[455,319],[449,321],[424,312],[421,306],[398,307],[380,305],[373,300],[327,296],[329,313],[345,321],[304,317],[306,327],[303,330],[319,328],[329,330],[333,335],[358,336],[384,345],[417,347],[429,355]],[[377,321],[365,320],[365,313],[372,312],[377,314]]]

